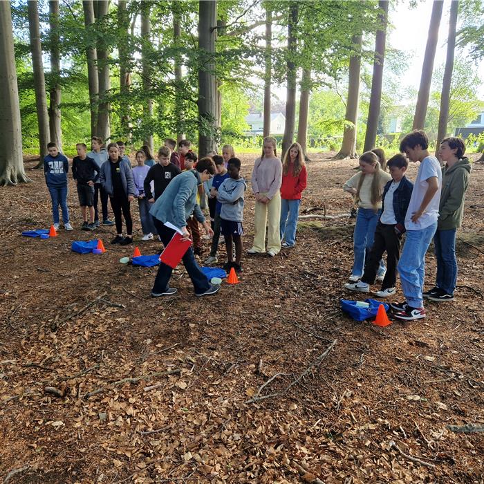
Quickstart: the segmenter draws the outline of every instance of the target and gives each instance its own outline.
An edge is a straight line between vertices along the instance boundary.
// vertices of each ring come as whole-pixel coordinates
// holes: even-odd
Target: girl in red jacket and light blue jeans
[[[282,247],[294,247],[296,243],[297,217],[301,205],[301,193],[306,189],[308,172],[299,143],[292,143],[284,155],[281,185],[281,243]]]

